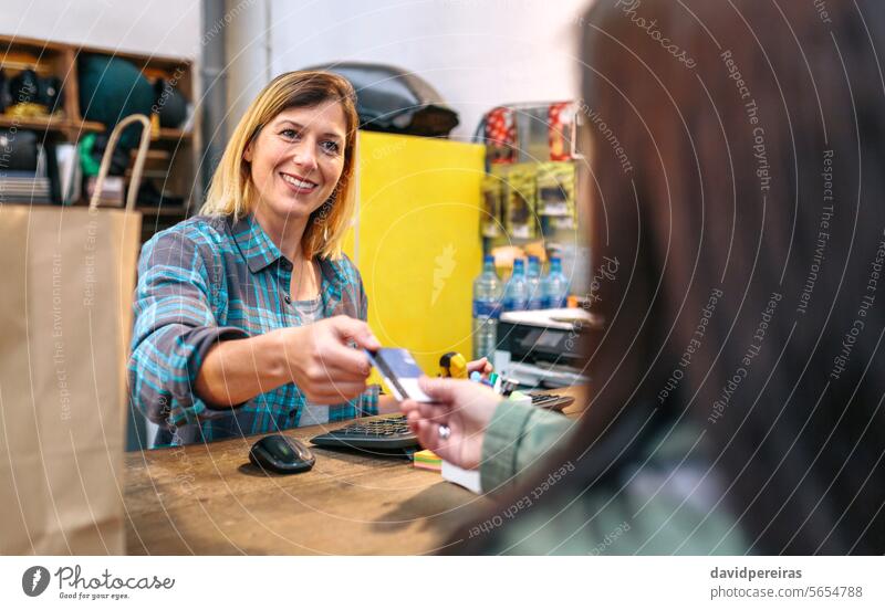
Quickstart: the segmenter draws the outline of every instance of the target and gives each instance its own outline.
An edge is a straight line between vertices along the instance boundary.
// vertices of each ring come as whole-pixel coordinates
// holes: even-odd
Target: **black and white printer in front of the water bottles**
[[[580,307],[503,313],[494,369],[521,388],[587,383],[584,335],[601,326],[597,316]]]

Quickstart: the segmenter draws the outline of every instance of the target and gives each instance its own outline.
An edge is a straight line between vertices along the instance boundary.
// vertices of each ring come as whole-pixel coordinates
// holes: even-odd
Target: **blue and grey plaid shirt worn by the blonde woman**
[[[323,317],[366,319],[360,272],[346,256],[319,260]],[[301,325],[289,297],[292,263],[250,215],[194,217],[148,241],[138,261],[132,355],[133,404],[160,424],[154,445],[258,434],[299,424],[305,396],[294,383],[236,409],[212,409],[194,393],[218,341]],[[329,407],[329,420],[375,414],[378,387]]]

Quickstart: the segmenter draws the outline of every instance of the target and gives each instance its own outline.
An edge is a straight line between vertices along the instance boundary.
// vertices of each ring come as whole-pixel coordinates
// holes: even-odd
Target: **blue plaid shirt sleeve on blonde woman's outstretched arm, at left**
[[[157,423],[183,425],[223,414],[195,395],[197,374],[218,341],[248,336],[216,323],[212,299],[223,294],[212,288],[215,265],[206,246],[188,233],[163,233],[145,244],[138,261],[129,391],[133,403]]]

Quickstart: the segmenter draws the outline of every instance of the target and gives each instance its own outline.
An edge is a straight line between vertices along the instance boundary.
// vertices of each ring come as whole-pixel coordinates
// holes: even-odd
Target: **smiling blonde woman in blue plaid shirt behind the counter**
[[[355,94],[292,72],[252,102],[200,215],[147,242],[129,359],[154,445],[206,442],[377,412],[362,349],[360,273],[341,242],[354,212]]]

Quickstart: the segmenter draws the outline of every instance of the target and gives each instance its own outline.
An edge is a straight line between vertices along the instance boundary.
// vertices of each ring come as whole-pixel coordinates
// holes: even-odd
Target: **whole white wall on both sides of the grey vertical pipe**
[[[335,61],[387,63],[424,76],[469,138],[489,108],[573,99],[587,0],[227,0],[228,125],[275,74]],[[222,7],[223,6],[223,7]],[[4,0],[4,33],[200,61],[196,0]],[[205,75],[204,75],[205,78]]]

